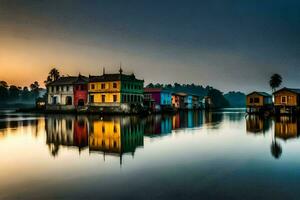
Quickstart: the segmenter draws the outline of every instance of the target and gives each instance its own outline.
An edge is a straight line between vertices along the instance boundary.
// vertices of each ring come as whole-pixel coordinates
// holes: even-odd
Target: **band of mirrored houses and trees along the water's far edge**
[[[300,122],[296,117],[267,118],[247,116],[231,112],[179,112],[175,115],[150,115],[100,117],[50,115],[47,117],[12,115],[1,116],[0,138],[7,135],[30,132],[37,137],[44,129],[50,155],[58,156],[62,148],[75,149],[78,154],[87,150],[90,154],[117,156],[122,163],[124,154],[134,156],[144,147],[144,136],[162,137],[173,131],[203,127],[206,130],[220,129],[228,122],[246,122],[246,132],[255,135],[270,135],[271,153],[280,158],[284,143],[299,137]]]

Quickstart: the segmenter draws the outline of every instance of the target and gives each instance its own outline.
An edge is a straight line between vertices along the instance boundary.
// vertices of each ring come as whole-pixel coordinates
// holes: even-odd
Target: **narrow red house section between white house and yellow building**
[[[88,78],[79,74],[74,84],[74,106],[84,106],[88,100]]]

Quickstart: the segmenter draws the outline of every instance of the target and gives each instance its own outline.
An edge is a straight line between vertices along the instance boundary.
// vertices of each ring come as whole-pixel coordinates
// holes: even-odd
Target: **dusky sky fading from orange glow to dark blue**
[[[300,88],[298,0],[0,0],[0,80],[134,72],[145,84]]]

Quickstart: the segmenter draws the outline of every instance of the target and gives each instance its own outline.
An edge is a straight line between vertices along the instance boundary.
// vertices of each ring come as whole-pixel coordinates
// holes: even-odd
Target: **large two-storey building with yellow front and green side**
[[[89,105],[98,109],[128,108],[132,104],[143,104],[144,81],[134,74],[126,75],[122,69],[118,74],[90,76],[88,84]]]

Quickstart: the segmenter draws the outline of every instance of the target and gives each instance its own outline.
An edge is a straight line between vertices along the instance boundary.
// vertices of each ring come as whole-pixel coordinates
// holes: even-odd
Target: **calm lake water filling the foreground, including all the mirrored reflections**
[[[299,199],[297,119],[0,114],[0,199]]]

